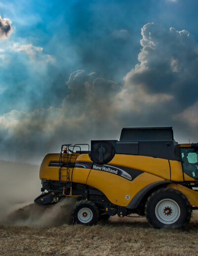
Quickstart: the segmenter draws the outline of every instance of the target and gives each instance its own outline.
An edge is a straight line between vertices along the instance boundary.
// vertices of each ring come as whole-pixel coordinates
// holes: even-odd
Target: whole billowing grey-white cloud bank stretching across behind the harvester
[[[173,126],[180,142],[189,134],[197,141],[197,42],[186,30],[167,31],[154,23],[142,28],[142,37],[139,64],[123,84],[77,70],[59,108],[1,116],[1,157],[39,162],[63,143],[119,139],[122,127]]]

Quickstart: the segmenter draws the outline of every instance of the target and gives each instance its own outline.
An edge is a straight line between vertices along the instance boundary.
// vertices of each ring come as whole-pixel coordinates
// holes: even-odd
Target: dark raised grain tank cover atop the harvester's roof
[[[172,127],[122,128],[120,141],[170,141],[173,138]]]

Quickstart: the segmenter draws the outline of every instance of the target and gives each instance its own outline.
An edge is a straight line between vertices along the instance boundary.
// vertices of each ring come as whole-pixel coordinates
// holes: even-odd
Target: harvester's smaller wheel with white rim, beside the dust
[[[98,221],[99,209],[95,203],[87,200],[81,200],[73,207],[72,218],[73,223],[92,226]]]

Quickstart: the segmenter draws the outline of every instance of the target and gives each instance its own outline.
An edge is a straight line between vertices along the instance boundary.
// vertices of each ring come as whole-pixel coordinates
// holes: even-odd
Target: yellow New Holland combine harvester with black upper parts
[[[189,223],[198,209],[198,143],[178,144],[172,128],[123,128],[119,141],[92,140],[83,151],[85,145],[45,156],[36,202],[75,196],[72,218],[84,225],[133,213],[155,228]]]

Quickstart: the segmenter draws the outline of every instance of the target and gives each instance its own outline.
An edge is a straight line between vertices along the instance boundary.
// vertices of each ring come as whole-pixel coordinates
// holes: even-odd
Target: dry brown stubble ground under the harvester
[[[156,230],[145,218],[127,217],[111,217],[92,227],[0,226],[0,255],[198,255],[194,215],[183,230]]]

